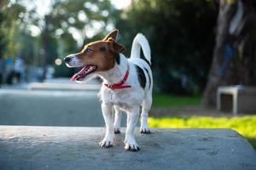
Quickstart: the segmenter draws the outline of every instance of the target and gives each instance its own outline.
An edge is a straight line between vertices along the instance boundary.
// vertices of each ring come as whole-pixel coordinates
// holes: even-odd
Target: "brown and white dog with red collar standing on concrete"
[[[85,81],[101,77],[102,115],[106,134],[100,146],[113,146],[114,133],[120,133],[122,112],[127,113],[125,150],[140,150],[134,131],[141,115],[141,133],[150,133],[148,111],[152,105],[153,77],[150,69],[151,56],[148,40],[138,33],[131,46],[131,57],[122,54],[125,47],[116,41],[118,30],[111,31],[100,41],[90,42],[78,54],[64,58],[68,67],[83,67],[71,77],[71,81]],[[141,48],[143,57],[140,56]],[[114,116],[113,116],[114,114]]]

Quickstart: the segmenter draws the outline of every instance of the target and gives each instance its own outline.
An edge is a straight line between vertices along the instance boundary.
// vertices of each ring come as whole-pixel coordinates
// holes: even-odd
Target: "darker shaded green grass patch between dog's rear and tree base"
[[[200,105],[201,96],[176,96],[153,94],[153,108],[182,108],[187,105]]]

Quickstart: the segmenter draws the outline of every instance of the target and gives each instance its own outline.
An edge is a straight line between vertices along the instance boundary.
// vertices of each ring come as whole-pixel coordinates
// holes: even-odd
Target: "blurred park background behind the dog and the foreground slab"
[[[114,28],[125,56],[137,32],[148,37],[151,127],[231,127],[255,145],[255,107],[234,115],[227,96],[216,110],[222,86],[250,87],[256,104],[254,0],[1,0],[0,124],[103,126],[100,82],[68,82],[63,58]]]

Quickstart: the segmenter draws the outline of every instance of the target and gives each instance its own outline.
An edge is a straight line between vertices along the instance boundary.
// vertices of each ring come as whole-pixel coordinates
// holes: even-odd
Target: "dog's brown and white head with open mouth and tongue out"
[[[118,54],[125,48],[116,42],[118,30],[111,31],[101,41],[90,42],[78,54],[69,54],[64,58],[68,67],[83,67],[71,80],[82,81],[97,71],[108,71],[113,68]]]

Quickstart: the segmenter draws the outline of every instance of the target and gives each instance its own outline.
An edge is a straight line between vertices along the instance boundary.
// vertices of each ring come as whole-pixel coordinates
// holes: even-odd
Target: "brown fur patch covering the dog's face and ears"
[[[96,65],[96,71],[108,71],[113,68],[115,57],[125,48],[115,41],[118,30],[114,30],[102,41],[90,42],[77,54],[84,65]]]

